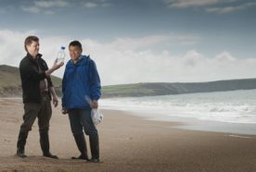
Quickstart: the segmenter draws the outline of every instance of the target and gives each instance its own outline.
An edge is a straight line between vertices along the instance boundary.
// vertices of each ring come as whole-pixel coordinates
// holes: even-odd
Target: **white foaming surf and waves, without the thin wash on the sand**
[[[102,99],[103,108],[256,124],[256,90]]]

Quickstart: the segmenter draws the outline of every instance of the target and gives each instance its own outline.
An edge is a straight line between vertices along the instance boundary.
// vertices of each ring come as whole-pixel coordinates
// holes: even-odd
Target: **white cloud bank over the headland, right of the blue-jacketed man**
[[[150,49],[137,50],[134,45],[130,44],[132,40],[128,43],[122,40],[123,47],[126,49],[115,46],[116,43],[121,43],[118,40],[105,44],[93,40],[82,42],[87,49],[85,51],[96,60],[104,85],[256,77],[254,74],[256,59],[237,59],[228,51],[220,52],[214,58],[209,58],[197,50],[189,50],[184,55],[172,55],[172,52],[168,50],[158,54]],[[133,43],[141,44],[140,39],[134,39]]]

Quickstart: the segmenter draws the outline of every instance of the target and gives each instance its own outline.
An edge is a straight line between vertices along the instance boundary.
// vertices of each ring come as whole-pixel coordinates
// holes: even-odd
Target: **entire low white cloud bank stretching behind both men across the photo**
[[[26,55],[24,39],[37,31],[1,31],[0,64],[18,67],[21,58]],[[40,35],[39,35],[40,37]],[[182,55],[173,55],[169,50],[160,53],[154,46],[175,42],[180,35],[149,35],[143,38],[118,38],[109,43],[99,43],[89,38],[83,43],[83,54],[90,55],[96,61],[103,85],[134,82],[192,82],[210,80],[230,80],[256,78],[256,59],[238,59],[236,55],[224,50],[213,58],[192,49]],[[175,39],[173,39],[175,38]],[[186,36],[187,38],[187,36]],[[185,39],[182,39],[183,41]],[[61,45],[68,46],[70,37],[40,37],[40,52],[48,66],[54,62]],[[182,41],[180,42],[182,45]],[[66,63],[70,59],[66,50]],[[54,75],[62,77],[64,68]]]

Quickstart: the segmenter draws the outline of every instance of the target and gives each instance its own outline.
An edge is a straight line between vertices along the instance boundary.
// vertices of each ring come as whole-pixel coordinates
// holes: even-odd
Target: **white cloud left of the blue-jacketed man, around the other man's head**
[[[38,35],[38,31],[9,31],[0,30],[0,64],[6,64],[13,67],[19,67],[20,60],[26,55],[24,50],[24,40],[29,35]],[[58,54],[58,49],[61,45],[69,43],[69,39],[65,37],[40,37],[40,52],[43,53],[45,61],[49,67],[54,62]],[[68,55],[67,55],[68,57]],[[62,72],[55,72],[59,77],[62,76]]]

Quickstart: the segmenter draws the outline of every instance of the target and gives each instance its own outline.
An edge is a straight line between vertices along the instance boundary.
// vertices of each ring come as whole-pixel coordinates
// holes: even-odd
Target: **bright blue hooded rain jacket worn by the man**
[[[96,63],[89,55],[82,55],[74,64],[70,60],[65,68],[62,80],[62,107],[66,109],[87,109],[90,105],[85,96],[98,100],[101,85]]]

